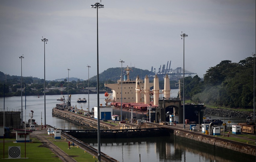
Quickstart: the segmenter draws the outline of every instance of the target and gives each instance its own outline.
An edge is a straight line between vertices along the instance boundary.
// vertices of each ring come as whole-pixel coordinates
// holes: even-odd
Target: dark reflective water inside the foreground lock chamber
[[[98,148],[97,139],[80,139]],[[174,137],[133,138],[133,139],[101,139],[101,152],[114,157],[118,161],[252,161],[255,156],[215,148],[187,139]],[[242,158],[241,158],[242,157]],[[124,160],[125,159],[125,160]]]

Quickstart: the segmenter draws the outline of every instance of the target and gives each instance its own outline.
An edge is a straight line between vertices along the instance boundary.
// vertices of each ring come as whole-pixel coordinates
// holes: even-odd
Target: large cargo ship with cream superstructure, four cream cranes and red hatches
[[[138,119],[148,122],[170,122],[170,116],[173,115],[175,122],[183,123],[181,98],[170,98],[170,79],[167,74],[164,78],[164,90],[160,91],[157,75],[154,82],[150,83],[147,75],[144,82],[139,76],[136,80],[131,80],[131,68],[128,66],[124,71],[126,74],[123,80],[105,84],[105,87],[112,89],[112,93],[105,93],[105,102],[106,106],[112,107],[113,115],[120,116],[122,109],[122,119],[131,122]],[[154,89],[151,90],[153,86]],[[185,119],[202,123],[205,108],[203,104],[186,104]]]

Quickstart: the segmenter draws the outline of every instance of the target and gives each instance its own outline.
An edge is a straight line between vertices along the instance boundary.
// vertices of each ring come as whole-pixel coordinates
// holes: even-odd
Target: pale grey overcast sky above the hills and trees
[[[46,80],[97,75],[95,2],[104,4],[99,73],[121,66],[158,71],[167,61],[183,68],[184,54],[185,70],[203,77],[223,60],[255,54],[255,0],[1,0],[0,71],[20,76],[23,55],[22,76],[43,79],[44,60]]]

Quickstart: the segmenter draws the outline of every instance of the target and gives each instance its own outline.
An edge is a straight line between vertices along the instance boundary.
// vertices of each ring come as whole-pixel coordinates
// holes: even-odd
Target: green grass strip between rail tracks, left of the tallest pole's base
[[[67,153],[69,156],[73,157],[76,161],[86,161],[86,162],[95,162],[95,158],[88,152],[84,152],[83,149],[80,147],[77,148],[71,147],[71,149],[68,149],[68,141],[64,140],[50,140],[53,144],[58,146],[61,150],[63,150],[65,153]],[[76,143],[75,143],[76,144]]]

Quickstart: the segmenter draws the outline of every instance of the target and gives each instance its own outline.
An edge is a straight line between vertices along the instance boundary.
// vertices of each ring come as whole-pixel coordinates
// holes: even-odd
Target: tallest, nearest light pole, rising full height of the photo
[[[100,100],[99,100],[99,38],[98,38],[98,8],[104,8],[104,5],[95,3],[91,5],[91,8],[97,8],[97,118],[98,118],[98,161],[101,161],[100,150]]]

